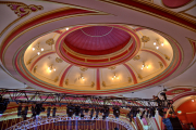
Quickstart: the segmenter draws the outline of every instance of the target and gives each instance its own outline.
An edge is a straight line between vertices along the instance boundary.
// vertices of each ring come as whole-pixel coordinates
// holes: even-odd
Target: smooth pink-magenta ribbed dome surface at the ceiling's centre
[[[73,51],[86,55],[103,55],[124,48],[128,32],[110,26],[90,26],[69,34],[64,42]]]

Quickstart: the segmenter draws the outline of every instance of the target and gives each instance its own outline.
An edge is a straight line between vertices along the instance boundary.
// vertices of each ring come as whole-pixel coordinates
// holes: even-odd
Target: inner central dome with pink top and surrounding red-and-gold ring
[[[140,49],[134,30],[122,25],[76,26],[64,31],[56,43],[65,62],[84,67],[108,67],[133,58]]]

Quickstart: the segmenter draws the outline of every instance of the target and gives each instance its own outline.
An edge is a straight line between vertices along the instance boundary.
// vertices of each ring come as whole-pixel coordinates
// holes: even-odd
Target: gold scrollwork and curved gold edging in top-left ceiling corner
[[[17,14],[19,18],[16,18],[15,21],[13,21],[12,23],[10,23],[1,32],[0,32],[0,37],[4,34],[5,30],[8,30],[9,27],[11,27],[13,24],[15,24],[16,22],[19,22],[20,20],[28,16],[32,12],[37,12],[39,10],[44,10],[44,8],[41,5],[27,5],[25,3],[22,2],[15,2],[15,1],[0,1],[0,4],[7,4],[8,6],[10,6],[10,9],[12,11],[14,11],[15,14]],[[13,5],[16,5],[16,8],[14,8]]]

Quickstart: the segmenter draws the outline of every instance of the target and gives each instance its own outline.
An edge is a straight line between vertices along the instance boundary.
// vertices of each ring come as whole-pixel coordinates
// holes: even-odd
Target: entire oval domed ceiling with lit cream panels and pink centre
[[[14,67],[48,90],[111,94],[167,80],[181,58],[179,44],[164,34],[127,25],[84,25],[33,39],[15,54]]]

